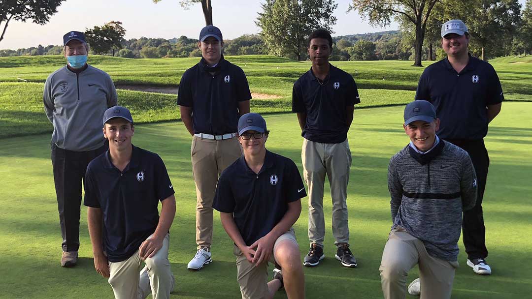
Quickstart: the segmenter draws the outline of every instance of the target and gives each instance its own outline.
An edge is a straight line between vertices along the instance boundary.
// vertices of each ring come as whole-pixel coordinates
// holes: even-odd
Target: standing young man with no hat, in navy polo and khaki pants
[[[347,131],[353,121],[353,106],[360,102],[353,77],[332,66],[329,56],[332,38],[318,29],[309,37],[311,69],[294,84],[292,112],[297,113],[302,136],[303,176],[309,186],[310,250],[304,265],[317,266],[325,258],[325,216],[323,184],[329,177],[332,197],[332,235],[337,246],[336,259],[345,267],[356,267],[349,249],[347,183],[351,151]]]

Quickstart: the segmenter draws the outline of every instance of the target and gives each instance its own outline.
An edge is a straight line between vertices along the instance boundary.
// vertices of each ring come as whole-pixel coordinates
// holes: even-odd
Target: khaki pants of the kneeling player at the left
[[[170,298],[174,282],[168,260],[169,245],[170,235],[167,234],[161,249],[144,261],[146,267],[142,271],[140,268],[143,261],[138,250],[125,261],[109,262],[109,284],[113,288],[114,297],[144,299],[152,293],[153,299]]]

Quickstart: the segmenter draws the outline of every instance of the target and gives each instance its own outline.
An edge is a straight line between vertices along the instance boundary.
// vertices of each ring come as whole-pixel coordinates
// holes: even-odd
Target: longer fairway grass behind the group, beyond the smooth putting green
[[[311,66],[310,62],[267,55],[228,56],[227,59],[246,73],[250,89],[255,93],[251,109],[259,113],[289,112],[293,84]],[[91,65],[109,72],[119,88],[119,105],[130,108],[139,123],[179,119],[176,96],[123,90],[121,86],[175,88],[185,70],[197,62],[198,58],[89,57]],[[361,104],[356,108],[408,103],[415,96],[424,70],[412,67],[409,61],[331,63],[353,75],[361,97]],[[423,65],[430,63],[423,62]],[[43,83],[64,64],[65,59],[60,55],[0,57],[0,138],[52,131],[43,113]],[[492,64],[500,76],[506,100],[532,101],[532,59],[503,57],[494,59]]]

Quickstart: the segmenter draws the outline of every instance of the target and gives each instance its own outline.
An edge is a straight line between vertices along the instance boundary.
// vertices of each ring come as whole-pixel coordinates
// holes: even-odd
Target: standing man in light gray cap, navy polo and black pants
[[[436,107],[442,123],[438,136],[469,153],[478,180],[476,206],[463,214],[463,242],[467,264],[477,274],[489,275],[486,262],[486,227],[482,200],[489,157],[484,146],[488,123],[501,111],[504,100],[501,82],[489,63],[468,53],[469,33],[460,20],[442,25],[442,47],[447,58],[425,69],[419,79],[416,99]]]

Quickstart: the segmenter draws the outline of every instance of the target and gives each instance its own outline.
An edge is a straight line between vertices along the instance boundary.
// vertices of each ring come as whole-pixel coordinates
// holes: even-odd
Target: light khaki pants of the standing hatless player
[[[301,150],[303,177],[309,186],[309,240],[323,247],[323,184],[329,178],[332,198],[332,235],[335,244],[349,243],[347,223],[347,183],[351,150],[347,139],[342,143],[320,143],[303,139]]]

